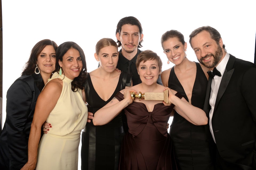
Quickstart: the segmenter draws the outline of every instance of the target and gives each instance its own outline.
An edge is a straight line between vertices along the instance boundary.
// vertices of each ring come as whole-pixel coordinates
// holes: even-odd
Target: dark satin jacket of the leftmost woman
[[[6,95],[6,121],[0,135],[0,169],[21,169],[27,162],[27,144],[37,97],[44,87],[41,74],[21,76]]]

